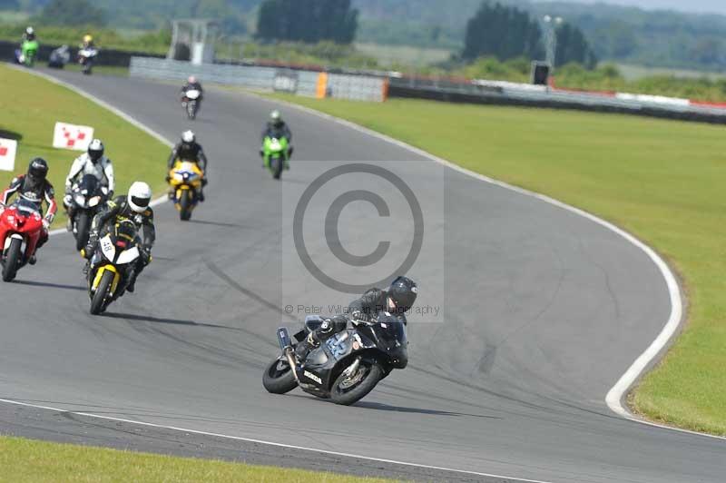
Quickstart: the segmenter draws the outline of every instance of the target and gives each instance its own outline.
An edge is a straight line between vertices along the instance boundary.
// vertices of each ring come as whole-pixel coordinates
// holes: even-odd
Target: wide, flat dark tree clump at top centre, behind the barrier
[[[350,0],[265,0],[260,5],[257,36],[314,44],[331,40],[350,44],[358,28],[358,10]]]

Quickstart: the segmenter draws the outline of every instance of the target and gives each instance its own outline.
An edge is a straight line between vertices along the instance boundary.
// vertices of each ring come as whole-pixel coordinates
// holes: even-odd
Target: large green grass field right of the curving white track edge
[[[634,392],[634,409],[652,419],[726,435],[722,127],[427,101],[366,104],[275,97],[584,208],[649,243],[682,276],[689,321],[662,363]]]

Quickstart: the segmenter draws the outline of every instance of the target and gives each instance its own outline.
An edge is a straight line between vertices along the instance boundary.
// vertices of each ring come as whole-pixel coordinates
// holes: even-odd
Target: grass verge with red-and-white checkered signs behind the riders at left
[[[113,161],[116,192],[123,193],[132,182],[142,180],[152,185],[155,194],[162,193],[170,148],[103,107],[40,77],[0,65],[0,84],[6,94],[0,97],[0,136],[6,137],[7,132],[22,136],[15,171],[0,172],[0,185],[5,187],[15,174],[25,173],[29,161],[41,156],[50,165],[48,177],[56,201],[61,202],[65,176],[81,153],[52,147],[54,124],[61,121],[93,126],[93,135],[103,140],[106,155]],[[64,213],[59,209],[54,224],[62,223]]]

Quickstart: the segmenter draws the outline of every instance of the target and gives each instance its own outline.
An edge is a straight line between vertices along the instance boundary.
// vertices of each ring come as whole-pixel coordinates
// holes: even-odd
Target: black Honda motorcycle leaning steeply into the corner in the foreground
[[[305,328],[293,337],[302,342],[322,319],[308,316]],[[296,387],[336,404],[350,405],[365,397],[394,369],[408,363],[406,325],[397,317],[380,312],[374,322],[357,322],[310,350],[304,360],[289,331],[278,329],[282,353],[272,360],[262,376],[268,392],[284,394]]]

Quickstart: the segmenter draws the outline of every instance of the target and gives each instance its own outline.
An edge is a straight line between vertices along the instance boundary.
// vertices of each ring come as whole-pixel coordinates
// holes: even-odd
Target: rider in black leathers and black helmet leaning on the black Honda
[[[312,330],[308,338],[299,343],[299,359],[304,360],[310,350],[318,347],[330,336],[345,330],[348,322],[354,325],[375,322],[381,311],[397,316],[406,324],[406,312],[413,306],[417,295],[417,283],[404,276],[398,276],[385,291],[375,287],[368,289],[359,299],[350,302],[347,313],[322,320],[320,327]]]

